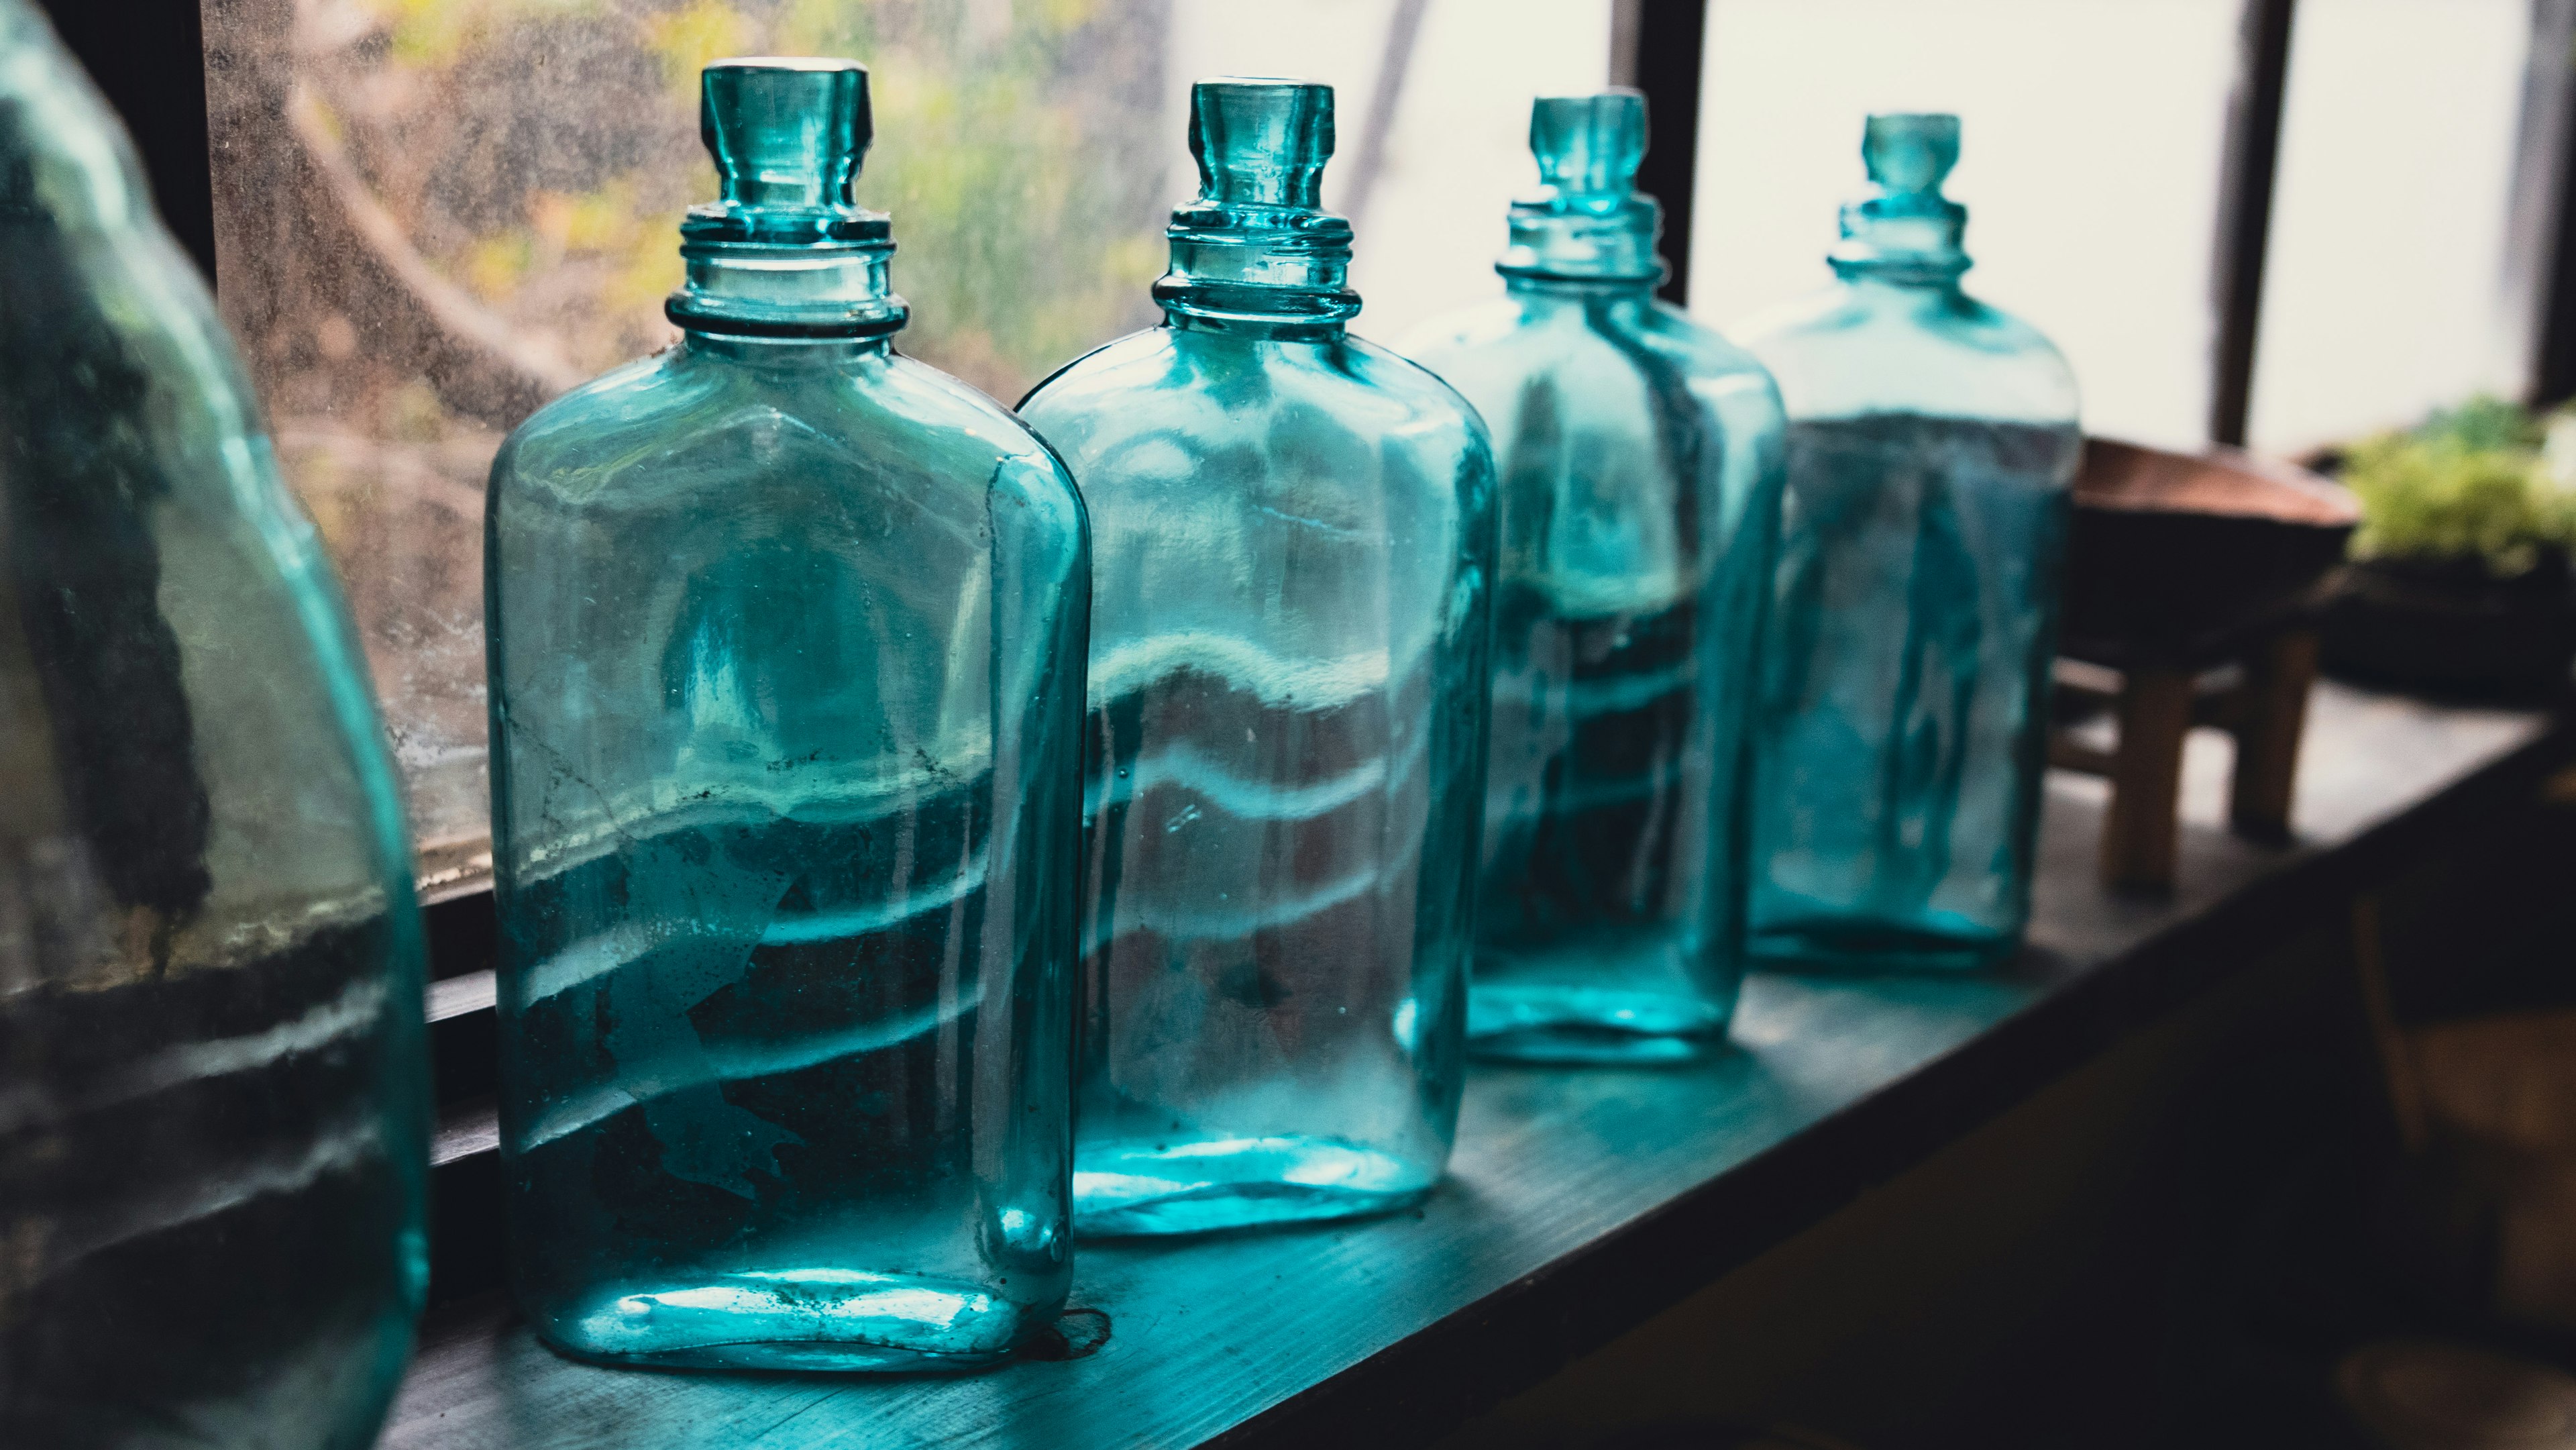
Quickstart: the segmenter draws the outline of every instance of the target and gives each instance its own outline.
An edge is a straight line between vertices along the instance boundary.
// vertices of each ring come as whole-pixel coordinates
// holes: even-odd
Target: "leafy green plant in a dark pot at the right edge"
[[[2324,610],[2329,672],[2470,695],[2555,695],[2576,659],[2576,415],[2478,397],[2354,443],[2362,528]]]

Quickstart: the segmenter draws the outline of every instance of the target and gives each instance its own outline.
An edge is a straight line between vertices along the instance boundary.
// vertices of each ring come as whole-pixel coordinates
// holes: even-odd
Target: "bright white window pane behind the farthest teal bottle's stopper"
[[[2239,0],[1710,0],[1690,306],[1824,286],[1860,118],[1955,111],[1968,288],[2074,363],[2084,425],[2208,435]]]

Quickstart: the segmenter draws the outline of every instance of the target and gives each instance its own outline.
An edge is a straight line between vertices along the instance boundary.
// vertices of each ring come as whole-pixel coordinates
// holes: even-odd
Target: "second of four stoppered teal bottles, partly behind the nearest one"
[[[1458,1125],[1494,461],[1350,337],[1332,88],[1206,80],[1164,325],[1023,417],[1095,531],[1082,1234],[1378,1213]]]

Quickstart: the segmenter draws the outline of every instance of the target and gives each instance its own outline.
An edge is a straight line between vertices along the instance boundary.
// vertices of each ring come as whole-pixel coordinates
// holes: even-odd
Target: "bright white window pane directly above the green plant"
[[[2257,448],[2519,394],[2504,291],[2527,0],[2303,0],[2254,348]]]

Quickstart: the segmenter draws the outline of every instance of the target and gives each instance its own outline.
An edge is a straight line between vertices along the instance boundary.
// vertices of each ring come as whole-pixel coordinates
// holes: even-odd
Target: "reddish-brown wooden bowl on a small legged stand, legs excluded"
[[[2084,440],[2058,652],[2215,662],[2308,603],[2362,520],[2339,484],[2239,448]]]

